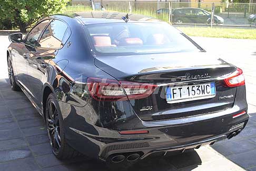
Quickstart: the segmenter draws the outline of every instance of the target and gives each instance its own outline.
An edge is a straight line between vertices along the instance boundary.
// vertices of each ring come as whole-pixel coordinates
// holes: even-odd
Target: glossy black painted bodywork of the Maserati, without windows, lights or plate
[[[78,15],[46,18],[65,22],[71,31],[61,49],[45,49],[21,42],[12,43],[7,51],[17,84],[43,117],[47,95],[54,93],[61,110],[66,141],[74,149],[103,160],[114,154],[132,152],[144,158],[157,151],[214,143],[232,133],[234,130],[229,130],[232,125],[247,123],[247,114],[232,118],[234,114],[247,111],[245,86],[225,87],[219,79],[237,67],[222,59],[210,58],[210,54],[203,51],[119,56],[122,62],[116,56],[96,56],[91,51],[83,25],[123,22],[122,19],[100,18],[102,13],[98,16],[83,21]],[[143,17],[133,16],[135,19]],[[208,59],[203,60],[205,58]],[[211,78],[184,82],[180,76],[187,72],[208,73]],[[104,102],[93,99],[88,93],[88,77],[172,85],[214,81],[217,94],[211,99],[178,104],[167,104],[161,93],[139,100]],[[75,92],[81,87],[85,89],[84,95],[78,96]],[[164,87],[158,87],[157,92]],[[230,94],[232,98],[218,99]],[[152,106],[152,110],[142,112],[143,106]],[[119,134],[120,130],[133,129],[146,129],[149,134]]]

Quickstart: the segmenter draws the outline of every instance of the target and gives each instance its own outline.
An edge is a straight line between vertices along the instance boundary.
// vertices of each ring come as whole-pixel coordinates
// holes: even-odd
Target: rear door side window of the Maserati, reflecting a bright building
[[[63,42],[64,39],[67,41],[67,38],[63,39],[64,35],[70,34],[67,30],[70,31],[65,23],[54,19],[45,29],[45,32],[40,39],[39,46],[42,48],[62,48],[65,44],[65,42]]]

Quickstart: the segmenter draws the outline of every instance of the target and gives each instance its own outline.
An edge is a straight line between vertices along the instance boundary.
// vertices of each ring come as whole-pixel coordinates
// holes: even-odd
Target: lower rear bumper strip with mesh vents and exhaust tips
[[[241,132],[241,130],[245,127],[248,122],[248,117],[245,116],[244,119],[239,120],[239,124],[242,125],[229,129],[227,132],[215,136],[205,136],[201,135],[197,139],[191,140],[192,137],[180,137],[180,139],[184,140],[183,143],[174,143],[174,139],[170,138],[166,140],[166,138],[154,139],[154,140],[144,140],[144,141],[130,141],[130,142],[119,142],[119,143],[111,143],[107,144],[102,150],[102,153],[99,154],[100,158],[106,160],[109,156],[113,156],[114,154],[125,154],[125,153],[139,153],[141,154],[140,159],[144,159],[145,157],[153,154],[160,153],[164,154],[165,152],[171,151],[179,151],[183,153],[186,149],[191,148],[199,148],[204,145],[213,145],[215,142],[226,139],[230,137],[231,134]],[[235,124],[238,125],[238,124]],[[232,126],[231,126],[232,127]],[[181,128],[182,129],[182,128]],[[202,128],[203,129],[203,128]],[[194,137],[193,137],[194,138]],[[177,138],[178,139],[178,138]],[[157,143],[155,143],[155,141]],[[159,145],[158,145],[159,144]]]

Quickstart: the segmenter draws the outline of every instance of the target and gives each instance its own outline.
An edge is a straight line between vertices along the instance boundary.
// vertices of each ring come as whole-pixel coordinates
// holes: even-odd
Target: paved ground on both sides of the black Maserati
[[[220,142],[212,146],[213,148],[206,146],[175,156],[151,156],[130,169],[256,170],[256,77],[253,75],[256,74],[256,55],[253,55],[256,52],[256,42],[201,37],[194,39],[209,52],[243,68],[247,79],[249,113],[252,116],[250,122],[243,133],[231,140]],[[0,36],[2,78],[7,77],[7,45],[7,37]],[[0,170],[107,169],[104,163],[86,158],[64,162],[57,160],[51,152],[41,116],[22,92],[13,92],[8,80],[0,79]]]

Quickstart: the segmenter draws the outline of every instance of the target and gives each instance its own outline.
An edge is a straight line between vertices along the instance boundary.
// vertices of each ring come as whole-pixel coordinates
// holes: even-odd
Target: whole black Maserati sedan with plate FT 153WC
[[[230,139],[248,122],[242,69],[155,18],[53,15],[9,40],[12,89],[45,119],[57,158],[135,162]]]

